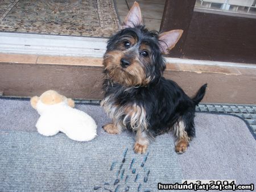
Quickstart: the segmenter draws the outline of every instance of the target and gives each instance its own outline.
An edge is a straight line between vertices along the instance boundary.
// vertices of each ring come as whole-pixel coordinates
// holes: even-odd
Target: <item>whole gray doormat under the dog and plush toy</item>
[[[196,139],[183,155],[171,135],[156,137],[144,155],[133,152],[131,133],[109,135],[98,105],[76,106],[98,125],[96,139],[79,143],[63,133],[36,132],[29,101],[0,98],[0,191],[157,191],[157,183],[189,180],[256,181],[256,141],[240,118],[196,114]]]

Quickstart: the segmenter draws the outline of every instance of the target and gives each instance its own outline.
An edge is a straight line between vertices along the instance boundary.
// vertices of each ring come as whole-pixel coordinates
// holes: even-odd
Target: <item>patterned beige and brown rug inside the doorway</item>
[[[118,30],[112,0],[1,0],[0,31],[108,37]]]

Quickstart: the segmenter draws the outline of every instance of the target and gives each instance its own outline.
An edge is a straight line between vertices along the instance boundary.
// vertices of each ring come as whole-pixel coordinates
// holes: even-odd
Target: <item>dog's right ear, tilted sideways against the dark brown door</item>
[[[183,34],[183,30],[171,30],[159,35],[160,51],[162,54],[168,54],[175,47],[177,41]]]

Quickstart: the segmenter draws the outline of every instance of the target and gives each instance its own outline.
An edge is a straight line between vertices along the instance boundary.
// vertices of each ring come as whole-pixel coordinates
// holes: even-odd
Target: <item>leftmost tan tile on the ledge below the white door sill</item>
[[[37,55],[0,53],[0,62],[35,64],[37,59]]]

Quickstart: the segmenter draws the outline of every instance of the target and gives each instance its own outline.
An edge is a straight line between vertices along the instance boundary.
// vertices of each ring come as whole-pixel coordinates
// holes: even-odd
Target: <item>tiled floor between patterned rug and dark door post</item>
[[[137,1],[141,7],[143,22],[149,30],[159,31],[162,20],[165,0],[139,0]],[[118,0],[117,11],[120,23],[123,22],[130,7],[133,6],[133,0]]]

